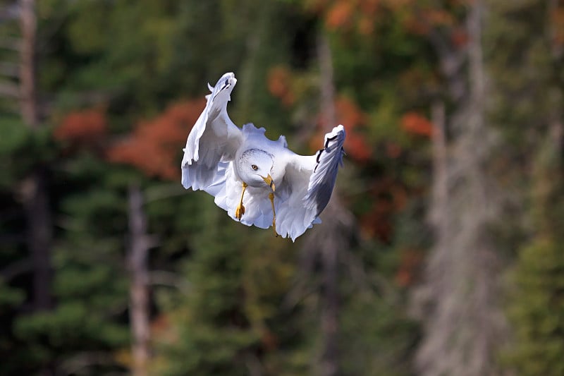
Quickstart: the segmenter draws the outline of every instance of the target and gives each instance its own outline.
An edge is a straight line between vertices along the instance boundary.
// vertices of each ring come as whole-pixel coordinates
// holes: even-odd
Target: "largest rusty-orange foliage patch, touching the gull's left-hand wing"
[[[180,150],[204,105],[204,99],[173,104],[156,119],[140,123],[130,138],[111,147],[108,159],[131,164],[148,176],[178,178]]]

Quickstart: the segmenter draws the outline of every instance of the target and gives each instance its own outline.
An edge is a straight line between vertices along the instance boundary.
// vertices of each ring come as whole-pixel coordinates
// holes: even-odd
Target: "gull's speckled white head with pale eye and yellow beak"
[[[274,159],[272,154],[259,149],[246,150],[239,158],[239,174],[245,183],[252,187],[269,186],[276,189],[272,181],[272,167]]]

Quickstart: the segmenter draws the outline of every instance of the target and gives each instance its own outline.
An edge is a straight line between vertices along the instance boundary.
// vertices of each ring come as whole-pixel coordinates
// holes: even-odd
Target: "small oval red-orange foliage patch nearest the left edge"
[[[54,138],[73,143],[92,143],[104,138],[108,128],[106,114],[98,109],[87,109],[65,116],[54,130]]]

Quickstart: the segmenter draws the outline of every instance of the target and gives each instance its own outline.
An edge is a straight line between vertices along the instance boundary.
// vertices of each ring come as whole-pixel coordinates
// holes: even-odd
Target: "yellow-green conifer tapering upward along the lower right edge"
[[[512,271],[508,317],[515,344],[505,360],[518,375],[562,375],[564,362],[563,123],[548,134],[535,161],[531,200],[533,238]],[[551,129],[555,131],[554,128]]]

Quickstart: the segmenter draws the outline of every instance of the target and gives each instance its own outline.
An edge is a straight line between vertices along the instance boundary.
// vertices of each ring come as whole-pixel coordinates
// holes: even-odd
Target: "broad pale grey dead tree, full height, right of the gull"
[[[455,109],[450,116],[442,104],[433,109],[430,219],[436,240],[416,293],[424,329],[416,368],[423,376],[503,375],[496,364],[506,338],[498,306],[502,263],[489,233],[500,219],[503,196],[488,170],[495,139],[485,120],[482,1],[468,7],[467,70],[453,63],[460,61],[455,47],[439,51]]]

